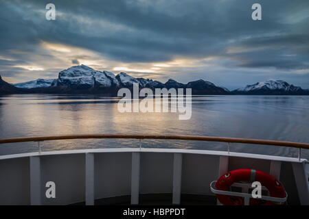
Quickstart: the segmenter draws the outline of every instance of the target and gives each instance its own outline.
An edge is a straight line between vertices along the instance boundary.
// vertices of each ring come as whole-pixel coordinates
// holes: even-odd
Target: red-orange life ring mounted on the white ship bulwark
[[[259,181],[261,185],[264,185],[271,197],[284,198],[286,197],[286,191],[275,177],[268,175],[266,172],[252,169],[238,169],[231,170],[225,175],[222,175],[216,182],[216,188],[218,190],[228,191],[233,183],[239,181]],[[216,194],[218,200],[223,205],[244,205],[244,198],[232,198],[228,195]],[[250,205],[275,205],[271,201],[262,201],[256,198],[250,198]]]

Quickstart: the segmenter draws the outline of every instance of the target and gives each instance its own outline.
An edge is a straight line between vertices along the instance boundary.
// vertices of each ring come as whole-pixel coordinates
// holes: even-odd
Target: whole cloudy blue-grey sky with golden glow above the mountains
[[[251,18],[253,3],[262,21]],[[308,0],[0,0],[0,75],[54,79],[85,64],[163,83],[235,89],[282,79],[309,88],[308,27]]]

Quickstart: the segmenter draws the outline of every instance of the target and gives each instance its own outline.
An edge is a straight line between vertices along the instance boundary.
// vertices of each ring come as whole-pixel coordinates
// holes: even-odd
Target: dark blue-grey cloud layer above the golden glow
[[[33,61],[29,53],[49,55],[44,40],[127,63],[216,56],[227,68],[308,69],[309,1],[258,2],[262,21],[251,20],[251,0],[52,1],[56,21],[46,21],[45,1],[1,1],[0,55]],[[18,70],[10,63],[0,62]]]

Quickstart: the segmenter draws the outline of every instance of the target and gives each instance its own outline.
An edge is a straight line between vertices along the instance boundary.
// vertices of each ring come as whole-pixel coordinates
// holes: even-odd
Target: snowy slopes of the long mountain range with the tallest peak
[[[48,83],[47,83],[48,82]],[[56,80],[43,80],[38,79],[36,81],[29,81],[26,83],[21,83],[19,86],[23,88],[43,88],[52,86],[53,88],[58,86],[63,86],[70,89],[90,89],[90,88],[121,88],[121,87],[132,87],[133,83],[139,83],[139,88],[186,88],[187,86],[195,90],[213,90],[216,88],[214,83],[209,81],[192,81],[187,83],[179,83],[173,79],[169,79],[166,83],[161,83],[160,81],[153,81],[152,79],[135,78],[127,73],[121,72],[118,75],[114,75],[109,71],[98,71],[85,65],[71,66],[65,70],[62,70],[58,74],[58,79]],[[61,88],[62,90],[65,88]],[[220,88],[222,90],[222,88]],[[219,89],[220,92],[222,92]],[[100,89],[99,89],[100,90]],[[218,90],[218,89],[215,89]],[[211,92],[210,92],[211,93]]]

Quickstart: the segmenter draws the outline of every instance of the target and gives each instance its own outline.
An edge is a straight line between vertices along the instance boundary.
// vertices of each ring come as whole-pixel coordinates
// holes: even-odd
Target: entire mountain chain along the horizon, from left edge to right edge
[[[117,94],[119,88],[132,88],[133,83],[139,83],[139,88],[191,88],[192,94],[309,94],[309,90],[293,86],[286,81],[268,80],[254,83],[244,88],[239,88],[230,92],[227,88],[221,88],[214,83],[204,81],[190,81],[189,83],[179,83],[174,79],[169,79],[165,83],[153,81],[152,79],[135,78],[127,73],[114,75],[109,71],[99,71],[89,66],[71,66],[60,71],[58,79],[37,79],[23,83],[10,85],[0,80],[5,93],[101,93]],[[9,86],[8,86],[9,85]],[[0,93],[2,91],[0,90]],[[3,92],[2,92],[3,93]]]

